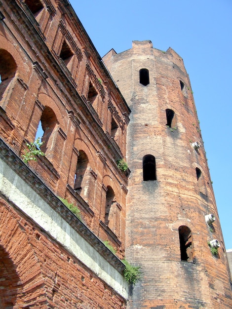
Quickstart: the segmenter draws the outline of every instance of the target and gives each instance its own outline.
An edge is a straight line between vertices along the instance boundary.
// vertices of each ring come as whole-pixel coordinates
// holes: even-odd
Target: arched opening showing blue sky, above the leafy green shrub
[[[55,113],[48,106],[46,106],[45,109],[43,110],[40,121],[41,121],[41,129],[43,131],[43,135],[41,138],[41,141],[43,143],[41,146],[41,151],[44,152],[46,157],[48,157],[50,151],[53,148],[54,132],[58,125],[58,121]],[[38,131],[39,130],[37,130],[37,132]]]

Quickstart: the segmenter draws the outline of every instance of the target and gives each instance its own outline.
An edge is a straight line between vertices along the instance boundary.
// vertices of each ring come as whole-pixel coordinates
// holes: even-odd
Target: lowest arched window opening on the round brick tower
[[[186,226],[179,227],[181,261],[193,262],[193,237]]]

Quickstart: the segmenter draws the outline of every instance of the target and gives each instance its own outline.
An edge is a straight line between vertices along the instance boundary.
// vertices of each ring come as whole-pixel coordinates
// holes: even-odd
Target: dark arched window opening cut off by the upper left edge
[[[4,49],[0,49],[0,100],[7,86],[14,78],[16,70],[17,65],[11,54]]]

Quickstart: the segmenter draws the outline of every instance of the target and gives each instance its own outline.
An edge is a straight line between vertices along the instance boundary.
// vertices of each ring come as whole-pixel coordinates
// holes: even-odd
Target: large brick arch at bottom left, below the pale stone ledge
[[[3,200],[0,204],[0,214],[0,257],[4,258],[5,267],[9,267],[5,274],[11,276],[13,281],[9,286],[12,291],[10,302],[15,303],[16,306],[31,303],[30,308],[42,308],[46,298],[45,282],[35,250],[25,232],[25,226],[20,224],[26,221],[22,220]],[[17,283],[13,290],[12,283]]]

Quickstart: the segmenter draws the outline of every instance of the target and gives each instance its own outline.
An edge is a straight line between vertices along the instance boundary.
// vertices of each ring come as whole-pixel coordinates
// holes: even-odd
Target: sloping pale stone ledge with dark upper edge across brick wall
[[[126,299],[124,264],[2,139],[0,159],[1,193]]]

